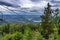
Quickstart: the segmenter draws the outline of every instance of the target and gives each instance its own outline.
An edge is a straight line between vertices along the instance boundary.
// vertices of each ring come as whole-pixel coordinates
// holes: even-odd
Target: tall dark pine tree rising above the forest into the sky
[[[44,10],[44,14],[42,15],[42,27],[43,27],[43,34],[45,39],[49,38],[49,34],[51,33],[50,30],[50,18],[51,18],[52,10],[51,5],[48,3],[47,7]]]

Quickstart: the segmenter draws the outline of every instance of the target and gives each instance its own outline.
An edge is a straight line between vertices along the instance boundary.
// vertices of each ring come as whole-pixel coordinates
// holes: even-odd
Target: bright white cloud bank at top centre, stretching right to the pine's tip
[[[46,6],[48,2],[47,1],[40,1],[38,3],[34,3],[31,0],[21,0],[21,7],[25,7],[25,8],[32,8],[32,7],[39,7],[39,8],[43,8],[44,6]]]

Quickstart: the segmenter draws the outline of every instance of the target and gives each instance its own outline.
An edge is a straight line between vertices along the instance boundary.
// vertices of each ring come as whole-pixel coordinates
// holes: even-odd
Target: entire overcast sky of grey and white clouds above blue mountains
[[[0,12],[4,14],[40,14],[47,3],[60,9],[60,0],[0,0]],[[13,12],[12,12],[12,11]]]

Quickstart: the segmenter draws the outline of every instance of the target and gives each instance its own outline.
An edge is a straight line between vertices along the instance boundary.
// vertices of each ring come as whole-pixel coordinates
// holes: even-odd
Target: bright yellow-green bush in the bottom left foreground
[[[14,34],[7,34],[1,40],[22,40],[22,33],[16,32]]]

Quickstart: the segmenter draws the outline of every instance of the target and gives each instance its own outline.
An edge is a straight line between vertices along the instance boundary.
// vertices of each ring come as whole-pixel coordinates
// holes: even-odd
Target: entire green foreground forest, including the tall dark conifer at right
[[[60,40],[60,11],[48,3],[41,15],[41,22],[4,23],[0,25],[0,40]]]

